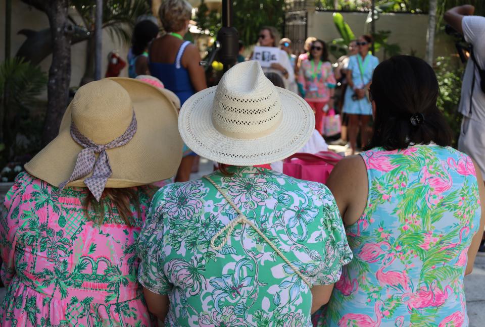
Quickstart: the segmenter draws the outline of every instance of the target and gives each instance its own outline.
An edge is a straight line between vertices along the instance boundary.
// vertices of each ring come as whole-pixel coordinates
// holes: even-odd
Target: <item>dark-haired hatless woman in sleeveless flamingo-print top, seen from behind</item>
[[[318,325],[468,326],[463,279],[484,225],[480,171],[449,146],[430,66],[393,57],[372,80],[371,143],[327,183],[354,259]]]

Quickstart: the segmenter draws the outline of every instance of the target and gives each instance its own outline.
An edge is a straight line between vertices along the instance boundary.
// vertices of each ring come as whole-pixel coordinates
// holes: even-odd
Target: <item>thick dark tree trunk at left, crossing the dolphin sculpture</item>
[[[51,142],[59,132],[62,116],[69,102],[71,81],[71,38],[74,31],[68,20],[68,0],[44,2],[52,33],[52,64],[47,84],[47,113],[45,115],[42,144]]]

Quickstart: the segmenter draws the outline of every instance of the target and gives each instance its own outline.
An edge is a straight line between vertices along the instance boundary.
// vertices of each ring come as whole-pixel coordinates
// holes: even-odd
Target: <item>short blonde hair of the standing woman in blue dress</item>
[[[166,32],[179,32],[192,17],[192,6],[185,0],[164,0],[158,15]]]

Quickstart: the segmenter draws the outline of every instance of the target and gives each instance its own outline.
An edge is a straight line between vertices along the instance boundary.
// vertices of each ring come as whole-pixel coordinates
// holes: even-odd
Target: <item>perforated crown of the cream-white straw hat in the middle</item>
[[[229,70],[217,87],[212,106],[212,122],[222,134],[255,139],[273,132],[283,113],[276,87],[264,76],[256,62],[244,74]]]

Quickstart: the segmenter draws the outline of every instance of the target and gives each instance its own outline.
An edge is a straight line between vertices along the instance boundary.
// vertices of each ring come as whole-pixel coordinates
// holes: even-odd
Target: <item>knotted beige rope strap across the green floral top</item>
[[[281,259],[283,259],[283,261],[286,262],[286,264],[289,265],[293,269],[293,271],[295,271],[295,273],[298,276],[300,276],[300,278],[305,282],[305,284],[307,284],[309,288],[312,288],[312,285],[310,284],[310,281],[308,280],[308,278],[305,275],[303,275],[301,273],[301,271],[293,263],[291,263],[288,260],[288,258],[286,258],[284,256],[284,254],[276,247],[276,245],[274,245],[274,243],[271,242],[271,240],[268,237],[266,237],[266,235],[264,235],[264,233],[261,232],[260,229],[253,222],[251,222],[248,219],[248,217],[246,217],[246,215],[241,210],[239,210],[239,208],[234,204],[234,202],[232,202],[229,199],[229,197],[226,195],[226,193],[224,191],[222,191],[221,188],[209,176],[204,176],[204,178],[206,180],[208,180],[209,182],[211,182],[212,185],[214,185],[214,187],[217,189],[217,191],[219,191],[219,193],[221,193],[221,195],[224,197],[224,199],[237,212],[237,216],[233,220],[231,220],[229,222],[229,224],[227,224],[223,229],[221,229],[219,232],[217,232],[216,235],[214,235],[214,237],[212,237],[211,247],[214,250],[220,250],[227,243],[229,238],[231,237],[232,231],[237,226],[237,224],[248,224],[249,226],[251,226],[252,229],[254,229],[256,231],[256,233],[258,233],[263,238],[263,240],[266,241],[266,243],[269,244],[269,246],[271,246],[271,248],[281,257]],[[219,244],[218,246],[215,246],[214,242],[224,232],[226,232],[226,235],[223,237],[221,244]]]

